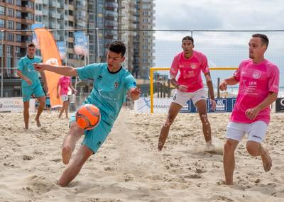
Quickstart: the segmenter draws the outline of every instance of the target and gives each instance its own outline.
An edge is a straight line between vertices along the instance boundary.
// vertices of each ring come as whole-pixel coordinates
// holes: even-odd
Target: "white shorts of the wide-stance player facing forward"
[[[195,104],[197,101],[200,100],[206,100],[206,91],[204,88],[199,89],[194,92],[182,92],[179,90],[175,91],[175,94],[173,95],[173,101],[174,103],[178,103],[180,106],[185,106],[187,101],[192,99],[192,102]]]

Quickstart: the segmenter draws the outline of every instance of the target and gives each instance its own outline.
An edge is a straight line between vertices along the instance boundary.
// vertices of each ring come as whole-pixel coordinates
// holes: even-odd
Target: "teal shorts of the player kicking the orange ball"
[[[75,122],[75,113],[70,117],[70,123]],[[111,132],[112,125],[109,125],[104,120],[99,121],[99,125],[92,130],[84,130],[84,140],[82,145],[89,147],[94,153],[99,150],[107,135]]]

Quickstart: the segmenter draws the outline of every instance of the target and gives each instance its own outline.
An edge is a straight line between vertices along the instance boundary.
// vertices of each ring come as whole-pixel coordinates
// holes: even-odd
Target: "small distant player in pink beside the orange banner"
[[[60,79],[58,81],[57,92],[58,92],[58,98],[60,96],[60,99],[63,103],[63,106],[60,110],[58,118],[61,118],[61,115],[64,111],[65,111],[66,118],[68,118],[69,101],[68,101],[68,94],[67,93],[69,91],[69,87],[75,93],[77,92],[77,90],[74,89],[72,84],[71,84],[71,78],[70,77],[66,77],[66,76],[60,77]],[[59,89],[60,89],[60,91],[59,91]]]

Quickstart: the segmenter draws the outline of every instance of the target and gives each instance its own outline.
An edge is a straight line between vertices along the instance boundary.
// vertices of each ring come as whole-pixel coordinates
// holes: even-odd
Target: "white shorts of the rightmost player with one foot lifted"
[[[236,123],[230,121],[226,127],[226,138],[241,141],[248,134],[248,140],[261,143],[265,136],[268,125],[258,120],[253,123]]]

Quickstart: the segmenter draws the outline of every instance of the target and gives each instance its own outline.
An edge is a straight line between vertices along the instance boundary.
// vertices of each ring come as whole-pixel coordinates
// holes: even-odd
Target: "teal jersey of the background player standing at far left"
[[[38,72],[35,71],[35,68],[33,68],[33,63],[40,63],[40,62],[41,60],[39,57],[33,57],[33,59],[30,59],[27,56],[22,57],[18,61],[17,69],[22,72],[23,76],[27,77],[28,79],[31,80],[31,82],[33,82],[31,86],[36,86],[40,84]],[[22,87],[26,86],[29,86],[28,83],[22,79]]]

